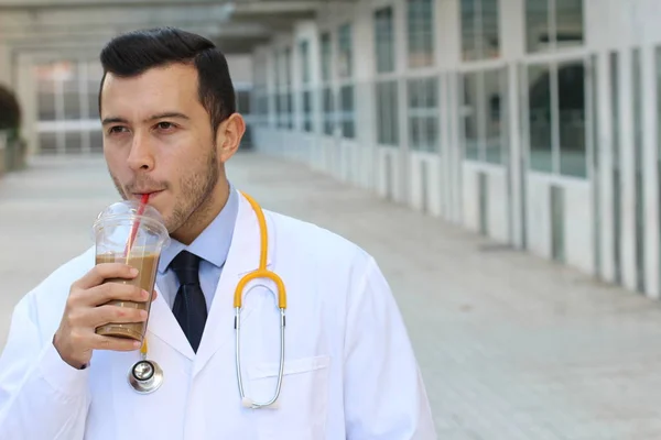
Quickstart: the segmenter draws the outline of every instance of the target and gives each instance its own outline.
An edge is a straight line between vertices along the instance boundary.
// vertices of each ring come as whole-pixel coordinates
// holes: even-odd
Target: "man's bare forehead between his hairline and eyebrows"
[[[101,89],[101,117],[140,118],[163,110],[202,108],[194,66],[173,64],[151,68],[132,77],[108,73]]]

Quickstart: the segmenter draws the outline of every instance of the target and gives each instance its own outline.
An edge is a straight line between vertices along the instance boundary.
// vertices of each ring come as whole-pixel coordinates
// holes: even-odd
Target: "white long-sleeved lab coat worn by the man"
[[[139,352],[95,351],[87,370],[62,361],[52,339],[71,284],[94,250],[56,270],[13,311],[0,359],[0,439],[435,439],[407,330],[375,261],[313,224],[264,211],[269,268],[286,286],[285,371],[278,409],[241,406],[232,297],[259,263],[257,218],[240,197],[232,244],[197,354],[162,296],[149,320],[149,358],[164,382],[150,395],[127,382]],[[248,396],[270,399],[279,314],[264,285],[246,290],[241,327]]]

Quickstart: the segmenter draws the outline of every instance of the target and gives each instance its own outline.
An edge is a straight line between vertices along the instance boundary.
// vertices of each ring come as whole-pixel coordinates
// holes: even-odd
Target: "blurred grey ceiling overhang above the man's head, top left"
[[[326,0],[0,0],[0,44],[14,52],[94,53],[123,32],[174,26],[208,37],[225,53],[250,53],[296,21],[314,19],[324,4]]]

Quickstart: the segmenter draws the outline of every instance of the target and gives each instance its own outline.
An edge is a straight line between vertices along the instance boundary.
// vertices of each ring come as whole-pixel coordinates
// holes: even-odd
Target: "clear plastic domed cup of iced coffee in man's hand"
[[[161,250],[170,242],[163,218],[149,205],[141,205],[139,201],[119,201],[99,213],[93,233],[96,243],[96,264],[124,263],[139,271],[133,279],[110,278],[104,283],[140,286],[150,293],[144,302],[124,300],[106,302],[145,310],[148,319],[144,322],[110,322],[98,327],[96,333],[142,342],[147,332]]]

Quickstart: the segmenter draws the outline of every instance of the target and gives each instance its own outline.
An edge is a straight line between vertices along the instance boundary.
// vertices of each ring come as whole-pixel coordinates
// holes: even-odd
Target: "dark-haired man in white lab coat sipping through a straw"
[[[172,239],[147,333],[163,383],[137,393],[127,374],[139,345],[95,333],[107,322],[144,321],[105,304],[144,301],[147,293],[104,283],[136,274],[119,263],[95,266],[89,250],[15,307],[0,359],[0,439],[435,438],[404,324],[372,257],[270,211],[268,268],[288,293],[284,374],[275,406],[245,405],[232,298],[261,248],[256,210],[225,173],[245,131],[225,57],[201,36],[160,29],[121,35],[100,58],[109,173],[122,198],[150,194]],[[182,265],[193,278],[183,280]],[[278,384],[280,314],[269,287],[251,282],[243,295],[241,378],[257,402]],[[183,300],[202,304],[203,318],[182,316]]]

